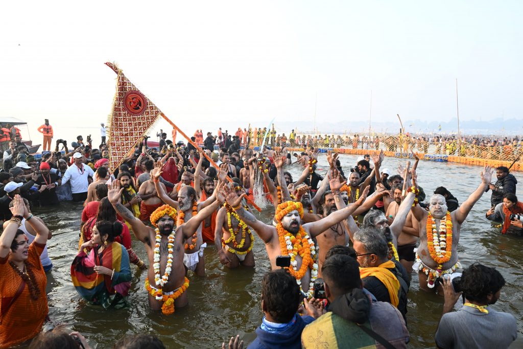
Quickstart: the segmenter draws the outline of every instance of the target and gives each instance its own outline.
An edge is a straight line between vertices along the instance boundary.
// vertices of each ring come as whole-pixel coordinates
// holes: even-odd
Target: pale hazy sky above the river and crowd
[[[462,119],[522,114],[520,1],[8,2],[2,12],[0,116],[29,121],[37,139],[44,118],[58,137],[96,134],[115,93],[106,61],[188,133],[311,121],[316,93],[317,122],[350,125],[368,119],[371,90],[373,120],[448,121],[456,78]]]

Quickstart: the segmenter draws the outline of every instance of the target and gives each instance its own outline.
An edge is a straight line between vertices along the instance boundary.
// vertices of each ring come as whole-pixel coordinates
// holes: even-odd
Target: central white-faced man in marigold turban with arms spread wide
[[[238,196],[234,187],[229,185],[223,187],[227,204],[232,207],[238,217],[254,229],[265,243],[271,268],[273,270],[278,268],[276,266],[277,256],[291,256],[289,273],[296,278],[298,285],[308,298],[313,295],[313,283],[318,273],[317,252],[312,239],[328,227],[347,219],[365,201],[366,193],[366,191],[363,192],[354,204],[333,212],[318,221],[305,223],[303,226],[301,225],[301,218],[303,217],[301,202],[282,202],[276,210],[277,226],[272,227],[260,222],[252,213],[245,210],[241,204],[245,194]]]

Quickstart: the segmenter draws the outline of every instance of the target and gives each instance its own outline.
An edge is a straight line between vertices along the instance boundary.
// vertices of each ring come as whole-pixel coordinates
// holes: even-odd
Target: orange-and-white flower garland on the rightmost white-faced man
[[[436,222],[430,212],[427,217],[427,247],[430,257],[438,263],[436,272],[441,273],[443,264],[452,256],[452,217],[447,211],[445,219],[439,223],[439,234]],[[430,286],[429,286],[430,287]]]

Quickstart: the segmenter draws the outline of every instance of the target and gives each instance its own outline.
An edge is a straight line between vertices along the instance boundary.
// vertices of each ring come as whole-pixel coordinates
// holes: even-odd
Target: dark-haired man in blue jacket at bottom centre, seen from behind
[[[314,321],[296,313],[301,298],[296,280],[285,269],[265,274],[261,280],[261,310],[265,316],[256,329],[257,338],[247,349],[301,348],[301,332]]]

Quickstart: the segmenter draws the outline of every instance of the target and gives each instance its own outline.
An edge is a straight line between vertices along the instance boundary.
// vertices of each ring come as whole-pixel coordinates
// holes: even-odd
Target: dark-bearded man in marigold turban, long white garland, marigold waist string
[[[150,265],[145,282],[149,306],[171,314],[175,306],[184,307],[188,303],[185,292],[189,287],[184,267],[185,241],[192,237],[204,219],[223,204],[224,198],[217,194],[217,200],[178,227],[175,226],[177,211],[168,205],[158,207],[151,214],[151,223],[156,227],[152,229],[122,205],[122,190],[119,181],[112,182],[107,198],[118,214],[131,224],[135,237],[145,245]]]

